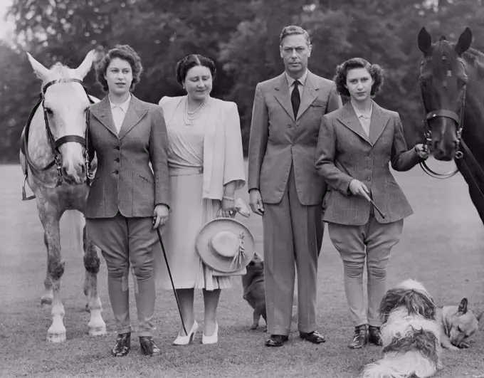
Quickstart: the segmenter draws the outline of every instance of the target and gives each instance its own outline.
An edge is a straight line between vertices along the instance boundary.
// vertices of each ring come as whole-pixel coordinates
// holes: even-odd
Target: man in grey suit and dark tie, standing
[[[311,48],[307,31],[283,28],[285,72],[258,83],[253,103],[248,189],[252,210],[263,216],[268,347],[288,341],[296,268],[300,337],[325,342],[315,307],[326,184],[314,161],[322,115],[342,102],[335,83],[307,70]]]

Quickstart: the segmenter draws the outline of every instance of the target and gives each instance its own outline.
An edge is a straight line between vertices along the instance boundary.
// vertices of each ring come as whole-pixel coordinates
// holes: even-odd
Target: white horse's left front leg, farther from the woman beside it
[[[47,331],[47,341],[64,342],[65,327],[63,323],[64,306],[61,300],[61,278],[64,274],[65,262],[61,256],[61,236],[59,229],[61,214],[45,199],[39,199],[37,206],[47,239],[47,280],[50,281],[53,291],[51,310],[52,325]]]

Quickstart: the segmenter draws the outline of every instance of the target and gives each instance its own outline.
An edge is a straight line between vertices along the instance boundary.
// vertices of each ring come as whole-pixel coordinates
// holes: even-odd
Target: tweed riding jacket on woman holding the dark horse
[[[389,223],[413,214],[404,192],[390,172],[406,171],[419,163],[415,149],[407,151],[397,112],[373,102],[369,136],[360,125],[350,102],[322,118],[315,167],[328,184],[323,201],[323,220],[336,224],[362,225],[369,220],[370,204],[349,191],[357,179],[371,192],[385,215],[375,211],[379,223]]]

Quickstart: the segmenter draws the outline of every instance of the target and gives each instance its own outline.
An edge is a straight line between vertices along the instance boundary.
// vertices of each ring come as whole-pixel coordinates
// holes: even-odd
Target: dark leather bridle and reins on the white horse
[[[45,97],[46,96],[46,90],[51,85],[54,85],[54,84],[57,84],[57,83],[80,83],[80,85],[83,85],[83,81],[82,80],[75,79],[75,78],[70,78],[70,79],[52,80],[52,81],[48,82],[46,85],[43,86],[43,89],[42,89],[42,92],[41,92],[41,95],[40,95],[41,98],[40,98],[40,100],[38,101],[37,105],[33,108],[32,112],[31,112],[31,116],[29,117],[29,120],[28,120],[28,125],[29,125],[29,122],[31,122],[31,119],[33,117],[33,114],[36,112],[38,106],[41,105],[42,106],[42,109],[43,109],[43,119],[44,119],[44,122],[46,124],[47,140],[48,140],[49,145],[51,145],[51,149],[52,149],[52,153],[53,153],[54,158],[52,159],[51,162],[49,162],[48,164],[46,164],[46,167],[39,167],[35,162],[33,162],[33,160],[31,159],[30,155],[28,154],[28,146],[27,146],[27,143],[28,143],[28,127],[27,127],[26,128],[26,135],[25,135],[24,140],[23,140],[26,160],[28,162],[29,167],[31,168],[31,172],[34,174],[34,176],[36,176],[36,179],[40,180],[43,183],[43,185],[46,186],[46,187],[55,188],[55,187],[58,187],[59,185],[61,185],[62,182],[63,182],[63,177],[62,177],[62,154],[59,151],[59,147],[61,147],[61,145],[63,145],[64,143],[67,143],[67,142],[77,142],[77,143],[80,143],[80,145],[82,145],[84,147],[84,149],[85,149],[85,153],[84,153],[84,155],[85,155],[84,156],[85,174],[86,174],[87,182],[88,182],[88,185],[89,185],[90,184],[90,180],[92,180],[94,178],[94,174],[92,172],[90,172],[90,159],[89,159],[89,113],[86,112],[86,117],[85,117],[86,128],[85,128],[85,136],[84,137],[80,137],[79,135],[63,135],[62,137],[59,137],[56,140],[54,138],[54,136],[53,136],[51,127],[49,126],[49,122],[48,122],[48,112],[47,112],[46,107],[44,106],[44,103],[45,103],[45,100],[46,100],[46,97]],[[83,88],[84,88],[84,85],[83,85]],[[87,90],[85,88],[84,88],[84,90],[85,90],[86,95],[88,96],[89,103],[93,104],[94,101],[88,95]],[[46,170],[50,169],[51,167],[53,167],[54,164],[56,165],[56,168],[57,168],[58,179],[57,179],[56,184],[54,186],[52,186],[51,184],[48,184],[46,182],[43,182],[43,180],[41,180],[38,177],[38,172],[46,171]],[[24,181],[24,183],[26,182],[26,177],[24,178],[23,181]]]

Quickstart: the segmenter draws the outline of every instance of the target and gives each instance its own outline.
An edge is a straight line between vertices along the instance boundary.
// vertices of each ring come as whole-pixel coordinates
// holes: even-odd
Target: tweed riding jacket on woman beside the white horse
[[[167,127],[162,107],[132,95],[117,133],[107,96],[90,106],[90,147],[98,157],[86,218],[152,216],[169,205]],[[152,167],[149,167],[151,162]]]

